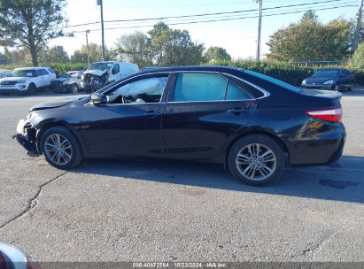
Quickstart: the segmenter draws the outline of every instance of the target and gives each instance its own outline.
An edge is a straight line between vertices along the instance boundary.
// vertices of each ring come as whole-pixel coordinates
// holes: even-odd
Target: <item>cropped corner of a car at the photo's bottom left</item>
[[[5,242],[0,242],[1,269],[40,269],[41,266],[33,257],[27,256],[23,250]]]

